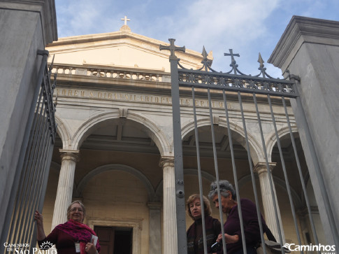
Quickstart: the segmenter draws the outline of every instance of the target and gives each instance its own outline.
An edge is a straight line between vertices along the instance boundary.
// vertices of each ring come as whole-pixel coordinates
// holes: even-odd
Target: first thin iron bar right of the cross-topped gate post
[[[195,101],[194,87],[192,87],[192,99]],[[196,105],[193,103],[193,115],[194,115],[194,135],[196,139],[196,163],[198,165],[198,178],[199,178],[199,193],[200,193],[200,204],[201,204],[201,223],[203,225],[203,253],[207,253],[207,239],[205,230],[205,205],[203,202],[203,181],[201,179],[201,164],[200,164],[200,150],[199,150],[199,133],[196,124]]]

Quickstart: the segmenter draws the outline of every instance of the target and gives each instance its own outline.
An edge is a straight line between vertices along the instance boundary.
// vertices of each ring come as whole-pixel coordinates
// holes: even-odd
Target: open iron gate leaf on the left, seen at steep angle
[[[0,241],[1,243],[22,244],[18,247],[24,253],[36,246],[34,211],[43,209],[57,130],[56,105],[53,103],[55,81],[53,84],[50,83],[52,64],[48,68],[47,50],[38,50],[38,55],[42,56],[38,84],[29,110],[15,183],[13,183]],[[15,253],[15,248],[11,250],[5,248],[3,253]]]

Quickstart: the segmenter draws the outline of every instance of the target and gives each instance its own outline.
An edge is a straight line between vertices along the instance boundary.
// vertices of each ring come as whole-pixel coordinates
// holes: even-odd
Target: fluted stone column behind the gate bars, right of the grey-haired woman
[[[273,167],[275,167],[276,163],[271,162],[269,163],[271,173],[273,171]],[[285,237],[284,237],[284,229],[282,228],[282,221],[280,216],[280,209],[277,202],[277,194],[275,192],[275,185],[272,179],[272,185],[273,185],[273,193],[271,192],[271,185],[270,180],[268,176],[268,171],[266,167],[266,162],[258,162],[257,165],[254,167],[254,172],[259,175],[259,181],[260,181],[260,188],[261,188],[261,197],[263,200],[264,205],[264,213],[265,213],[265,220],[266,224],[270,228],[271,232],[273,233],[275,239],[277,241],[279,240],[279,233],[277,229],[277,220],[275,219],[275,211],[274,211],[274,204],[273,204],[273,197],[275,198],[276,205],[277,205],[277,217],[280,223],[280,229],[282,234],[282,242],[284,243]],[[272,176],[272,175],[271,175]]]

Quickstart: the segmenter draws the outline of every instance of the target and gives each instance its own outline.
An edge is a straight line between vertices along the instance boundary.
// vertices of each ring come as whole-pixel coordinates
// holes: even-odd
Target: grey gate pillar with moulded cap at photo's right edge
[[[291,99],[327,244],[339,246],[339,22],[294,16],[268,62],[299,76]],[[325,243],[321,243],[325,244]]]

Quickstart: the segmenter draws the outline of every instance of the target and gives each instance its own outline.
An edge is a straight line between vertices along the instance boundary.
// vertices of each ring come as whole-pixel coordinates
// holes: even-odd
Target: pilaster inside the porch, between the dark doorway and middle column
[[[148,202],[150,209],[150,251],[161,254],[161,203]]]

